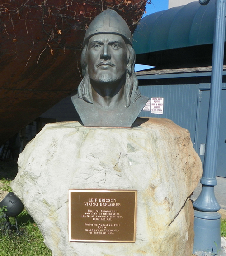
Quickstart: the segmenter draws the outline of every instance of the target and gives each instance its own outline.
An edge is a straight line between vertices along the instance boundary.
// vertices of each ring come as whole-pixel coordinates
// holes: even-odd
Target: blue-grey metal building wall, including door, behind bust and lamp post
[[[225,71],[224,71],[225,72]],[[151,76],[149,76],[150,78]],[[163,114],[151,114],[151,111],[141,111],[140,117],[168,118],[179,126],[188,129],[194,149],[200,156],[202,163],[204,155],[200,155],[200,143],[206,143],[207,119],[209,106],[210,82],[207,77],[196,77],[193,84],[186,84],[188,77],[184,77],[180,84],[174,84],[175,79],[168,79],[160,84],[160,79],[140,81],[139,89],[142,95],[154,98],[164,98]],[[139,80],[139,77],[138,77]],[[226,77],[223,77],[221,99],[221,123],[218,145],[217,176],[226,177]],[[155,85],[158,83],[158,85]],[[152,85],[148,85],[152,84]]]

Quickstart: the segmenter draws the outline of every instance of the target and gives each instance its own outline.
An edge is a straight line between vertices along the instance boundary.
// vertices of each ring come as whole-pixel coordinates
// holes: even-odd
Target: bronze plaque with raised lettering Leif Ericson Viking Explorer
[[[135,242],[137,190],[69,189],[69,241]]]

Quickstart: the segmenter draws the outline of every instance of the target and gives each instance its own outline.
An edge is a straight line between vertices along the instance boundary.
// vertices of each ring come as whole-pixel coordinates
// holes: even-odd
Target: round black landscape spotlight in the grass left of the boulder
[[[5,207],[7,211],[2,216],[2,218],[5,218],[5,222],[3,223],[3,226],[0,227],[0,229],[11,231],[16,230],[18,233],[16,216],[23,211],[23,203],[18,197],[14,195],[13,192],[9,192],[0,202],[0,208],[3,207]],[[9,217],[15,217],[16,225],[11,225],[11,222],[9,222]]]

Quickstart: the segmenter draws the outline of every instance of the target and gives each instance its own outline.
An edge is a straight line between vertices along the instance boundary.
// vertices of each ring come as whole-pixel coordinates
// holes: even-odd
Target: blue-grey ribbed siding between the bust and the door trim
[[[141,111],[139,116],[168,118],[179,126],[188,129],[192,142],[195,139],[195,125],[198,102],[198,84],[139,86],[142,95],[163,97],[163,114]]]

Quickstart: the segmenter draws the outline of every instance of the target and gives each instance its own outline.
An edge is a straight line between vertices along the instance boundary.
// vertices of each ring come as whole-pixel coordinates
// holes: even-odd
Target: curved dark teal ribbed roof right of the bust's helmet
[[[147,15],[133,34],[136,54],[213,43],[215,0],[198,1]]]

